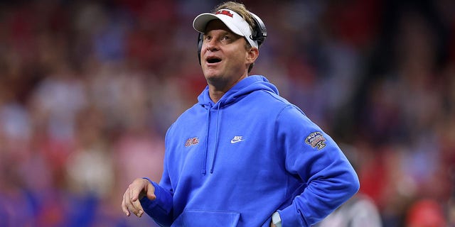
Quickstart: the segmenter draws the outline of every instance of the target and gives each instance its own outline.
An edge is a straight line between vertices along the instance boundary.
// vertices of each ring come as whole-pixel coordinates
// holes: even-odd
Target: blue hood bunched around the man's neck
[[[208,86],[205,87],[203,92],[198,96],[198,104],[204,106],[206,109],[215,105],[219,105],[219,107],[228,106],[242,99],[245,95],[259,90],[279,94],[277,87],[270,83],[267,78],[261,75],[252,75],[235,84],[234,87],[229,89],[229,91],[221,97],[217,104],[213,103],[212,99],[210,99]]]

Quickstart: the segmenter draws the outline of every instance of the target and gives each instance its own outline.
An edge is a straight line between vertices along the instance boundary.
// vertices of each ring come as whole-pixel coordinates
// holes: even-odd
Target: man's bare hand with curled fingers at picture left
[[[129,184],[127,191],[123,194],[122,210],[129,216],[130,211],[139,218],[144,214],[144,209],[139,200],[147,196],[150,200],[156,199],[155,187],[147,179],[137,178]]]

